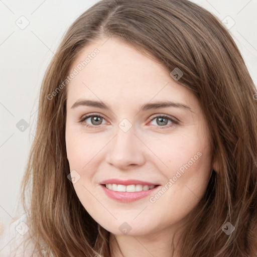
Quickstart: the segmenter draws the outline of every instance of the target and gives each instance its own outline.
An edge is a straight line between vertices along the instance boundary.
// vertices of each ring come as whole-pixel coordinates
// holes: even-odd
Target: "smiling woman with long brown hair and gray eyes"
[[[42,84],[23,180],[35,256],[256,256],[255,95],[203,8],[95,4]]]

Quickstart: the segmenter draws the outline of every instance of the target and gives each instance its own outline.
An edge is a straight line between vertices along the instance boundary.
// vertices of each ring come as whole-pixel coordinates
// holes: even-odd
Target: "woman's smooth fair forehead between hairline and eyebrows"
[[[192,92],[176,83],[162,64],[116,39],[104,38],[84,47],[69,74],[74,69],[77,74],[67,86],[67,106],[82,97],[123,104],[151,99],[187,103],[195,100]]]

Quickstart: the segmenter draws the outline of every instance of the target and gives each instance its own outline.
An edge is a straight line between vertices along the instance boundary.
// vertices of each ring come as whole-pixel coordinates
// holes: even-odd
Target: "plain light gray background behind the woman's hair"
[[[6,225],[19,214],[18,190],[34,140],[39,90],[47,65],[67,28],[96,2],[0,0],[0,223]],[[229,16],[224,20],[229,27],[235,22],[230,32],[256,85],[257,0],[192,2],[220,20]],[[26,22],[29,25],[21,29]],[[16,126],[21,119],[29,123],[24,132]]]

